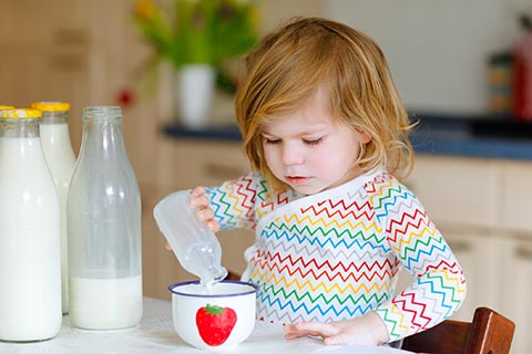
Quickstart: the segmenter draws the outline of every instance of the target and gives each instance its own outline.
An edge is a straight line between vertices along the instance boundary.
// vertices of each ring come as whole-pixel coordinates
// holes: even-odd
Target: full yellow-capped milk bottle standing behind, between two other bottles
[[[61,299],[63,314],[65,314],[69,312],[66,196],[75,164],[75,155],[69,135],[70,104],[64,102],[33,102],[31,107],[42,112],[39,127],[41,146],[59,197],[61,211]]]

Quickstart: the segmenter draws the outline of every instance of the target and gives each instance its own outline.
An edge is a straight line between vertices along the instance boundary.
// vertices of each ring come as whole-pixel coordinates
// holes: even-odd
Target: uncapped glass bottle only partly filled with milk
[[[141,195],[120,107],[83,110],[66,210],[72,324],[86,330],[136,325],[142,317]]]

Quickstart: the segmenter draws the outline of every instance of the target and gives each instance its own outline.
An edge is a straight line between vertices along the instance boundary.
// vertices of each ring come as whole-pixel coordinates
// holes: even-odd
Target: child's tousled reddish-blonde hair
[[[273,187],[284,186],[264,158],[262,125],[298,110],[321,84],[328,88],[331,114],[370,136],[357,167],[380,166],[399,178],[408,176],[413,166],[408,138],[412,125],[382,51],[366,34],[320,18],[293,19],[246,58],[235,107],[252,167]]]

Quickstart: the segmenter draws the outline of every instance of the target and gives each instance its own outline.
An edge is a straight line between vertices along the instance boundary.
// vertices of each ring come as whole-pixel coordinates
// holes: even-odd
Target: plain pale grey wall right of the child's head
[[[411,108],[485,110],[485,60],[511,46],[530,0],[328,0],[327,17],[372,37]]]

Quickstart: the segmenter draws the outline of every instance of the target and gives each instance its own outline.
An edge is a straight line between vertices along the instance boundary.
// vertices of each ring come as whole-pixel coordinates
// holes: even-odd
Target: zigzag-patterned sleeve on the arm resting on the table
[[[376,310],[393,341],[451,316],[466,298],[466,279],[451,249],[411,191],[393,179],[368,188],[390,248],[413,279],[411,285]]]

